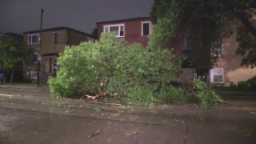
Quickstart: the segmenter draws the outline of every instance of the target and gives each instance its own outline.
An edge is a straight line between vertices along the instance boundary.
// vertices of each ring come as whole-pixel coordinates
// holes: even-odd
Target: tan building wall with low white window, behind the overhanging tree
[[[241,66],[242,55],[236,54],[239,45],[237,35],[237,28],[234,26],[233,34],[229,38],[222,39],[222,49],[218,60],[210,70],[211,83],[218,86],[230,86],[256,76],[255,68]]]

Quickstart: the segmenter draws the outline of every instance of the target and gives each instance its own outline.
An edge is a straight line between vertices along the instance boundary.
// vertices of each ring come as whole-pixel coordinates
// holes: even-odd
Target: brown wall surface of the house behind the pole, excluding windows
[[[58,32],[58,42],[53,42],[53,33]],[[39,34],[38,31],[33,33],[24,33],[24,41],[27,43],[28,41],[28,35],[29,34]],[[77,46],[80,44],[80,42],[88,41],[89,35],[83,34],[82,32],[79,32],[77,30],[70,30],[70,29],[53,29],[53,30],[47,30],[42,31],[42,49],[41,49],[41,55],[44,54],[60,54],[63,53],[65,50],[65,46]],[[38,44],[36,45],[27,45],[28,48],[34,51],[34,53],[38,52]],[[52,73],[52,58],[54,58],[54,55],[52,56],[46,56],[42,57],[42,62],[40,66],[40,82],[46,83],[47,78],[49,76],[53,76]],[[24,70],[24,73],[26,71],[38,71],[38,64],[34,63],[30,66],[27,66],[26,70]],[[26,75],[26,74],[24,74]]]

